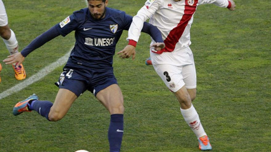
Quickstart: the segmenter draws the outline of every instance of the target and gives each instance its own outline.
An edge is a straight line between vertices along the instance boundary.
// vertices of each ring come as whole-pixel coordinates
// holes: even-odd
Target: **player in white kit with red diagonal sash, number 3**
[[[143,22],[161,31],[165,48],[160,51],[150,49],[153,67],[167,87],[180,102],[184,120],[196,134],[200,150],[212,150],[192,100],[196,98],[196,68],[189,45],[190,28],[198,5],[213,3],[220,7],[235,9],[233,0],[147,0],[133,18],[128,31],[129,41],[138,41]],[[154,43],[152,40],[151,45]],[[127,45],[121,53],[130,54],[134,47]],[[120,56],[121,57],[121,56]]]

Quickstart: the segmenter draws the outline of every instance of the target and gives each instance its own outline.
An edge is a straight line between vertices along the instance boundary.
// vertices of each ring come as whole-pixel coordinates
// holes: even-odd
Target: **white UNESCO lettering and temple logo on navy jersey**
[[[85,38],[85,45],[90,46],[108,46],[114,43],[115,37],[113,38]]]

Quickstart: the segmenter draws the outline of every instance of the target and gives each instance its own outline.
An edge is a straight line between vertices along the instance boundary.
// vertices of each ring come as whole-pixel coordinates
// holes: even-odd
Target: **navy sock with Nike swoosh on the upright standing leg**
[[[119,152],[123,136],[123,114],[111,115],[108,129],[110,152]]]

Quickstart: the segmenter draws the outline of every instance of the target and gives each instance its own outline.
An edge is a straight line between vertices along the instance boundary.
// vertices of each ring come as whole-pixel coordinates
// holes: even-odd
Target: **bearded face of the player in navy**
[[[95,19],[102,19],[105,16],[105,7],[108,4],[108,0],[103,2],[102,0],[90,0],[88,1],[88,9],[91,16]]]

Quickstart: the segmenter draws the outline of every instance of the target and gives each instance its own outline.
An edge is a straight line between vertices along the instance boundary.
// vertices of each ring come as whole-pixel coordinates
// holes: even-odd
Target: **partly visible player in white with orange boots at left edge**
[[[0,35],[5,42],[6,48],[9,50],[10,55],[18,53],[18,41],[16,39],[15,33],[9,28],[6,9],[2,0],[0,0]],[[17,68],[16,64],[12,64],[12,67],[14,69],[15,78],[17,80],[23,80],[26,78],[26,72],[22,64],[17,65]],[[0,64],[0,72],[1,70],[2,66]]]

